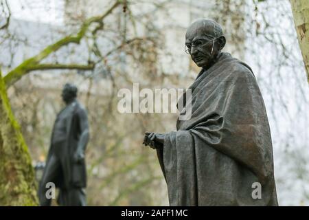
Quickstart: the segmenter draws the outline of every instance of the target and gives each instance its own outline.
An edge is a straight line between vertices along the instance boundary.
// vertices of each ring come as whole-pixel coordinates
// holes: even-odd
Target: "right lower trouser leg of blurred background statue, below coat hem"
[[[58,203],[60,206],[86,206],[84,188],[60,188]]]

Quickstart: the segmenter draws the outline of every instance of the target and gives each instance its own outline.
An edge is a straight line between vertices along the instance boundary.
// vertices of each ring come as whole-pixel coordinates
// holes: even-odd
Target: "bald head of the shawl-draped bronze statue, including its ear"
[[[198,67],[208,69],[225,46],[225,36],[218,23],[209,19],[198,19],[187,28],[186,52]]]

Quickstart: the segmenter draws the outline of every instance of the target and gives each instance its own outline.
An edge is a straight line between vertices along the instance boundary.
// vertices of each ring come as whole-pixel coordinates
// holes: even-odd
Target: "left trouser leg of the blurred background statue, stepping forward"
[[[50,157],[46,164],[43,177],[41,179],[40,188],[38,189],[38,198],[40,200],[40,206],[50,206],[52,199],[47,199],[46,192],[49,188],[46,188],[46,184],[52,182],[55,184],[58,175],[61,174],[60,159],[55,155]]]

